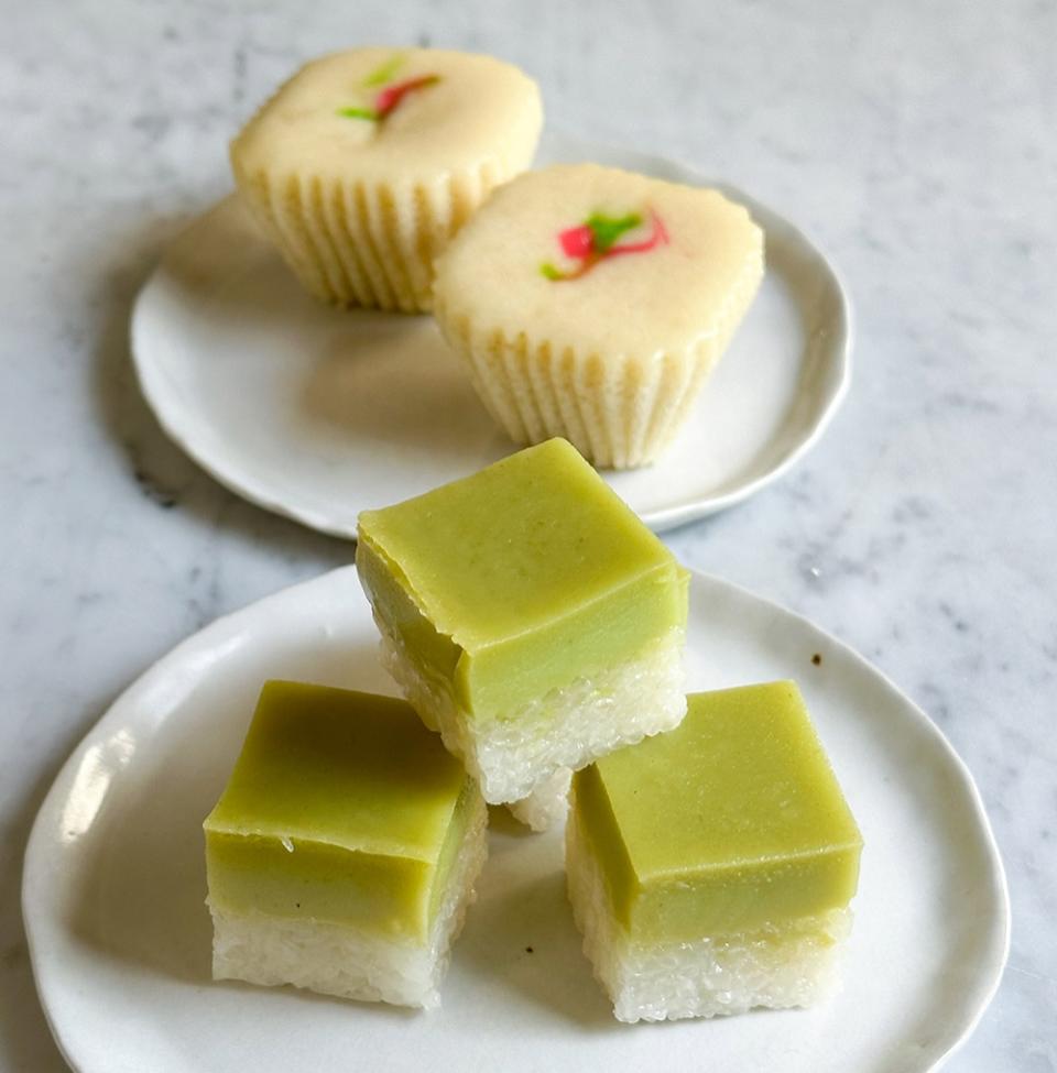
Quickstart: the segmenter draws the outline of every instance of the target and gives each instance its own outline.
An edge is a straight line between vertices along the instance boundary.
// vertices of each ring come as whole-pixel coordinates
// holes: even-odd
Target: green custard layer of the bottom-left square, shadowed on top
[[[210,904],[425,940],[478,796],[403,701],[270,681],[204,824]]]

